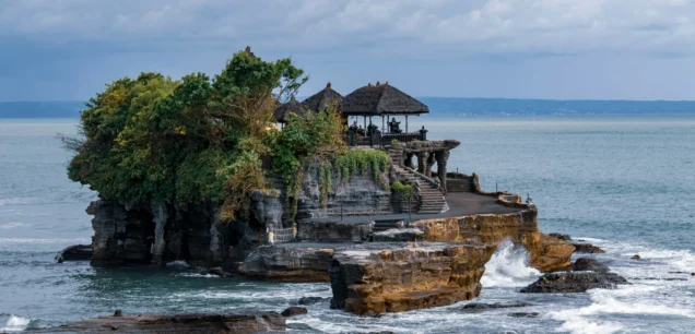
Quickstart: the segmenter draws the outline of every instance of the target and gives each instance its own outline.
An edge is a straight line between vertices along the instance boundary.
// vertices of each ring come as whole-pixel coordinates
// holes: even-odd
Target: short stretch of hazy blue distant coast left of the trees
[[[0,118],[79,118],[84,102],[0,102]]]

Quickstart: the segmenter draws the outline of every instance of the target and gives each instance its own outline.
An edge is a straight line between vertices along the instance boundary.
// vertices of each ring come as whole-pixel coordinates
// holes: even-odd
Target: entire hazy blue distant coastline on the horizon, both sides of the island
[[[514,117],[573,115],[695,115],[695,102],[554,100],[419,97],[428,117]],[[0,103],[0,118],[78,118],[83,102]]]

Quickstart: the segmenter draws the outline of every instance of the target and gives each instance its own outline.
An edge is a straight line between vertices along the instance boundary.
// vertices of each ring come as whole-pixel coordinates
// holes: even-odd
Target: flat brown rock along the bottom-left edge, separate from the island
[[[255,314],[143,314],[99,317],[32,333],[257,333],[285,329],[276,312]]]

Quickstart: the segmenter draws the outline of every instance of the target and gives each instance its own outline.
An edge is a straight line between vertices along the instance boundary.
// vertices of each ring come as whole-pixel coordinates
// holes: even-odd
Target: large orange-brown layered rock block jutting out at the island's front
[[[447,306],[478,297],[495,248],[480,243],[365,243],[331,260],[331,308],[357,314]]]

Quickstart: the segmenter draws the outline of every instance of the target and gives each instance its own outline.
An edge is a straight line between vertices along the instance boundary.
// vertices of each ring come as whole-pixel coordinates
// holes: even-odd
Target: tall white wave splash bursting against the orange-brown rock
[[[481,278],[483,287],[525,286],[541,275],[529,266],[529,253],[522,247],[515,247],[510,240],[504,240],[485,264],[485,274]]]

